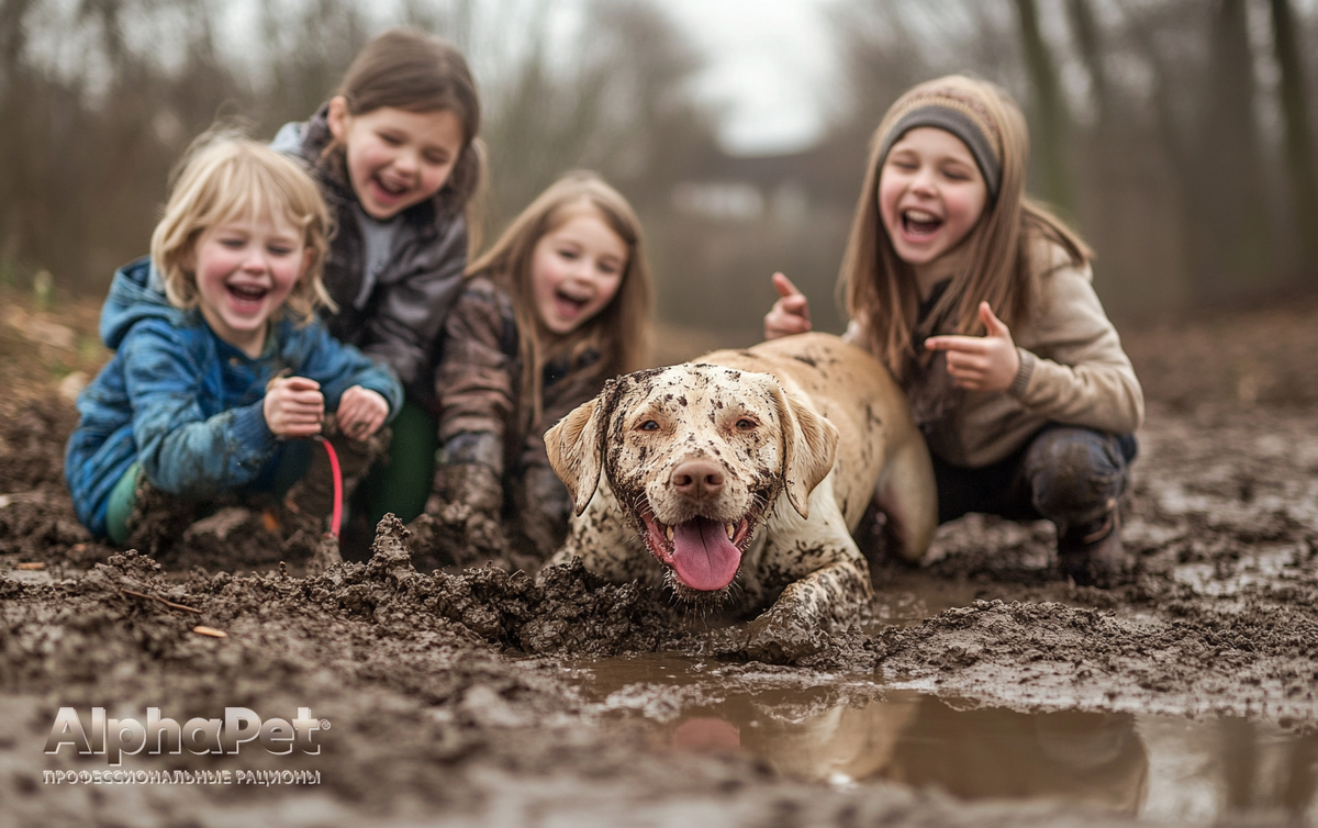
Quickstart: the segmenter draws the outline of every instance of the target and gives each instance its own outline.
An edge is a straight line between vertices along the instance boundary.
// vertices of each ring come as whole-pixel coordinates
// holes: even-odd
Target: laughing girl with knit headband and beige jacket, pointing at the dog
[[[873,148],[840,278],[846,336],[905,389],[940,521],[1044,517],[1064,574],[1119,574],[1144,397],[1090,251],[1024,195],[1020,109],[982,80],[931,80],[892,104]],[[764,335],[808,331],[805,297],[780,273],[774,283]]]

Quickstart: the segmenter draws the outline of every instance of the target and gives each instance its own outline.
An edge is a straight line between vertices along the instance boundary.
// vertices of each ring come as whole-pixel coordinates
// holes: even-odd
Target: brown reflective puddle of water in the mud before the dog
[[[1275,813],[1318,825],[1318,734],[1223,719],[973,708],[862,676],[672,657],[575,668],[588,705],[642,720],[656,748],[735,752],[838,786],[888,781],[963,799],[1065,800],[1151,820]]]

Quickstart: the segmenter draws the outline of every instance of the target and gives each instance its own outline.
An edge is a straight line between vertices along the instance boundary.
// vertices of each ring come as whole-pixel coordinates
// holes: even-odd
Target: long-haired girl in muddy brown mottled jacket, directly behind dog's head
[[[439,525],[461,523],[460,550],[501,552],[511,512],[543,560],[571,513],[544,431],[606,378],[646,363],[651,285],[641,223],[604,181],[568,174],[469,274],[444,326],[435,380],[444,461],[418,535],[431,542]]]

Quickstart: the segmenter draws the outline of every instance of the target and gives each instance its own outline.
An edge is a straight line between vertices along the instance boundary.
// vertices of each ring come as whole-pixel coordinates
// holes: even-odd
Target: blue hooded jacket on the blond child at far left
[[[326,410],[353,385],[380,393],[393,418],[393,372],[330,336],[319,320],[275,323],[260,357],[216,336],[198,310],[170,305],[149,257],[115,273],[100,316],[115,356],[78,397],[65,479],[78,519],[105,535],[109,494],[133,461],[162,490],[212,500],[265,480],[282,443],[265,423],[266,384],[281,374],[320,384]]]

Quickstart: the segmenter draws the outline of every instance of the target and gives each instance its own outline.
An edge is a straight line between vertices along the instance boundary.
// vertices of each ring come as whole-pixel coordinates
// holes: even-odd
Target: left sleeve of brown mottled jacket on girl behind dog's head
[[[469,280],[444,323],[443,359],[435,376],[440,443],[480,432],[496,436],[502,447],[519,376],[511,302],[489,281]],[[502,472],[502,454],[498,461]]]

